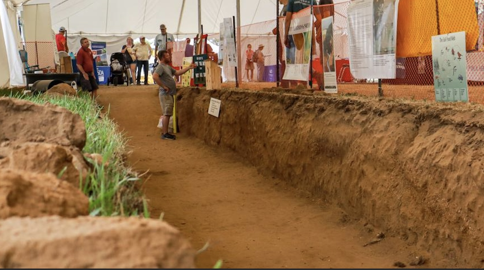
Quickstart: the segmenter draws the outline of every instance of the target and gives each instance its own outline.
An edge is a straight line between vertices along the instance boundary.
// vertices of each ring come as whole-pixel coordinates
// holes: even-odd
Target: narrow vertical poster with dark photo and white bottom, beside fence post
[[[336,61],[334,60],[333,16],[321,20],[321,40],[323,41],[323,56],[321,57],[324,71],[324,91],[337,93]]]

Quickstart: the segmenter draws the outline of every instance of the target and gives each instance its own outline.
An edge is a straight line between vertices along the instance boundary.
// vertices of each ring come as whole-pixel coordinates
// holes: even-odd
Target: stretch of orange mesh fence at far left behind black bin
[[[39,68],[55,69],[54,51],[57,50],[53,42],[22,42],[20,48],[27,51],[27,63]]]

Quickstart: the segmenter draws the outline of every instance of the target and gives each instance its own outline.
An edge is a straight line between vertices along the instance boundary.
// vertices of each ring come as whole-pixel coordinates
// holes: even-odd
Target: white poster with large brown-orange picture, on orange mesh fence
[[[312,15],[291,19],[286,47],[286,70],[283,79],[307,81],[311,54]]]

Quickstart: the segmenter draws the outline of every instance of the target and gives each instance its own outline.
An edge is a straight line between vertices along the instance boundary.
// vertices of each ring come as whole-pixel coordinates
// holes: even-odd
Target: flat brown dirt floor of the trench
[[[364,246],[378,228],[257,170],[231,150],[181,132],[160,139],[157,88],[101,87],[98,102],[129,137],[129,164],[143,177],[151,217],[181,230],[198,268],[407,268],[425,255],[397,237]],[[432,261],[420,267],[432,267]],[[417,266],[418,267],[418,266]]]

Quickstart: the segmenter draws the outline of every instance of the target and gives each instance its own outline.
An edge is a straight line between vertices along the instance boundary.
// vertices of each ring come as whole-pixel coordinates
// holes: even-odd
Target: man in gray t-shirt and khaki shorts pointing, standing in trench
[[[176,136],[168,133],[168,123],[170,121],[170,117],[173,115],[173,96],[177,94],[177,85],[173,76],[182,75],[190,69],[196,68],[197,64],[191,63],[190,66],[184,67],[181,70],[175,70],[168,65],[168,63],[171,61],[171,55],[166,50],[161,50],[158,52],[158,59],[160,60],[160,63],[154,70],[153,80],[160,87],[158,89],[158,97],[160,99],[161,110],[163,112],[161,138],[166,140],[174,140],[176,139]]]

